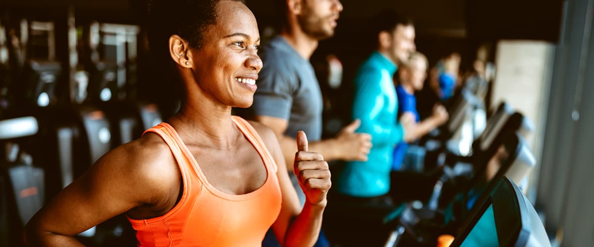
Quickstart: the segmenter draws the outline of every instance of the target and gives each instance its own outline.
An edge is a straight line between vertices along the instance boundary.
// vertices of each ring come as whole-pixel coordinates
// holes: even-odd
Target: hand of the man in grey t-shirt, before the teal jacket
[[[371,149],[371,134],[355,133],[360,125],[361,120],[356,119],[334,137],[337,158],[345,161],[367,161]]]

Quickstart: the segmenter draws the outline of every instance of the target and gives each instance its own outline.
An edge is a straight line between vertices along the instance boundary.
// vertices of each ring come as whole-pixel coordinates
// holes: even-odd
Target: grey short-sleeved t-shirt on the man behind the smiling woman
[[[264,67],[258,74],[252,113],[285,118],[287,136],[295,138],[303,130],[308,140],[320,140],[322,94],[311,63],[281,36],[268,41],[260,57]]]

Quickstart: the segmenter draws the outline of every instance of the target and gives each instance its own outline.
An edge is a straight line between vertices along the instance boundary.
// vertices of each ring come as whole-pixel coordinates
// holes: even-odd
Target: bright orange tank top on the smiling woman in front
[[[261,246],[280,212],[282,196],[277,166],[264,142],[244,119],[233,123],[255,147],[266,166],[266,182],[248,194],[232,195],[209,184],[200,166],[167,123],[145,131],[159,134],[178,162],[183,193],[179,202],[159,217],[135,220],[138,246]],[[239,164],[241,165],[241,164]]]

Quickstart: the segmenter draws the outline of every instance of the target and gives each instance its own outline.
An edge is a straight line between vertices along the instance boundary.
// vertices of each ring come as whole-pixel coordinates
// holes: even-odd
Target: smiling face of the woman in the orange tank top
[[[191,49],[198,87],[212,100],[230,107],[249,107],[262,68],[257,54],[258,25],[241,2],[220,1],[216,24],[204,33],[201,49]]]

